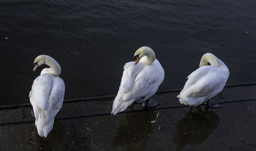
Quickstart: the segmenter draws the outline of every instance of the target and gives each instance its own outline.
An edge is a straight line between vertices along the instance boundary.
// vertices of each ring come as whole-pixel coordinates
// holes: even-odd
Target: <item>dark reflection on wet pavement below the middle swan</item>
[[[145,150],[147,139],[155,130],[151,121],[156,116],[155,111],[126,114],[112,140],[113,145],[120,150]]]

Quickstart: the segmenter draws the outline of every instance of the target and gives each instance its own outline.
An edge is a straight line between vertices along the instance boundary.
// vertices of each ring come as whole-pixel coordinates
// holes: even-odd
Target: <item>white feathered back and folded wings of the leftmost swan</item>
[[[47,137],[52,130],[54,118],[62,107],[65,93],[65,84],[63,80],[51,74],[48,75],[40,75],[40,78],[34,81],[30,92],[30,102],[33,106],[36,119],[35,125],[37,132],[41,137]],[[51,86],[49,86],[50,84]],[[45,86],[45,88],[43,88],[43,86]],[[49,87],[50,92],[46,91],[49,90]],[[42,94],[40,91],[47,93]],[[34,95],[37,96],[35,97]],[[38,99],[38,97],[43,97],[44,99]],[[39,101],[43,101],[43,103],[40,103]]]

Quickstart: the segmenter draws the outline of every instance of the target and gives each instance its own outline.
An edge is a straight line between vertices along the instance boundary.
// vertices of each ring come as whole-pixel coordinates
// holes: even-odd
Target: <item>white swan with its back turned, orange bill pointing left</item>
[[[53,128],[56,114],[62,108],[65,84],[59,78],[60,66],[52,57],[47,55],[36,57],[33,71],[42,64],[47,64],[50,68],[42,69],[34,80],[29,97],[37,132],[41,137],[47,137]]]

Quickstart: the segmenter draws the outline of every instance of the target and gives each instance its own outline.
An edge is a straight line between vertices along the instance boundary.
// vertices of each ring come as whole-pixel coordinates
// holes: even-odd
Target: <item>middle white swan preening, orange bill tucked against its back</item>
[[[128,62],[123,67],[122,80],[111,112],[114,115],[125,110],[135,100],[145,101],[150,98],[163,82],[164,70],[150,47],[140,47],[134,58],[135,62]]]

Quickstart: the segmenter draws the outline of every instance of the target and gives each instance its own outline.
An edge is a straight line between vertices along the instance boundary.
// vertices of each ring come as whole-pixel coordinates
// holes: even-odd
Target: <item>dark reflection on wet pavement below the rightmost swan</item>
[[[176,150],[186,144],[198,145],[214,132],[219,124],[219,116],[214,111],[203,111],[201,107],[191,107],[178,124],[174,134]]]

